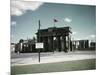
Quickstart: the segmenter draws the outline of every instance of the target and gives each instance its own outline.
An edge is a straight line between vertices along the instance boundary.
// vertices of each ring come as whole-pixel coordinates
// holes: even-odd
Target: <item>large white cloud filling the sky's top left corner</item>
[[[27,10],[35,11],[38,9],[43,2],[36,1],[11,1],[11,15],[21,16],[26,13]]]

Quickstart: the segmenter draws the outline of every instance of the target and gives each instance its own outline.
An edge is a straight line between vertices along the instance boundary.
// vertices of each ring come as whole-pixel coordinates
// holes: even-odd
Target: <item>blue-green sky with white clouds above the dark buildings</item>
[[[36,37],[41,29],[70,26],[74,40],[96,41],[96,6],[45,2],[11,1],[11,42]]]

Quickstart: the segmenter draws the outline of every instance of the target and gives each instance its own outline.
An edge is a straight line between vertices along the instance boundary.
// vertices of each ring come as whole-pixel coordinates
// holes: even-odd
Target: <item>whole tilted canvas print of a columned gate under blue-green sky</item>
[[[96,69],[96,5],[11,0],[11,75]]]

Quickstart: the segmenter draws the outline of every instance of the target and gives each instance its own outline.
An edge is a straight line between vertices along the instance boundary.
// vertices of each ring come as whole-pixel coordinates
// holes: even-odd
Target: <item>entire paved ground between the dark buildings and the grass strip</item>
[[[95,51],[75,51],[75,52],[48,52],[41,53],[41,62],[38,62],[38,53],[11,54],[11,65],[41,64],[62,61],[73,61],[83,59],[95,59]]]

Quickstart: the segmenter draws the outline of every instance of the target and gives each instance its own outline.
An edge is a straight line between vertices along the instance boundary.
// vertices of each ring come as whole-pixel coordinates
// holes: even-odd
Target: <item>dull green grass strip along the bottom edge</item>
[[[58,63],[33,64],[23,66],[12,66],[11,75],[31,74],[31,73],[47,73],[47,72],[64,72],[76,70],[92,70],[96,68],[95,59],[65,61]]]

